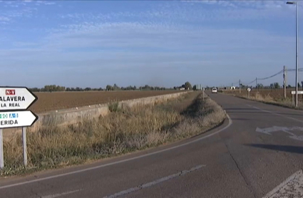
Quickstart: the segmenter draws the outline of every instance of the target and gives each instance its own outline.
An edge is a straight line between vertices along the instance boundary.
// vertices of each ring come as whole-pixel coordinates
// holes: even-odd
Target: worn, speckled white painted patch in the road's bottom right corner
[[[303,171],[299,170],[263,198],[303,197]]]

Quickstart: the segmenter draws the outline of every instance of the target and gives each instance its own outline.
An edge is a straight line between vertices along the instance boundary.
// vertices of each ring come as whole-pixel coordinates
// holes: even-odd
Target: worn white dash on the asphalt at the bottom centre
[[[157,179],[157,180],[155,180],[155,181],[153,181],[153,182],[148,182],[148,183],[146,183],[146,184],[141,184],[141,185],[139,185],[139,186],[137,186],[137,187],[133,187],[133,188],[130,188],[130,189],[125,189],[125,190],[123,190],[123,191],[121,191],[121,192],[117,192],[117,193],[115,193],[115,194],[106,196],[106,197],[104,197],[104,198],[115,198],[115,197],[119,197],[119,196],[122,196],[122,195],[125,195],[125,194],[130,194],[131,192],[135,192],[135,191],[137,191],[137,190],[139,190],[139,189],[143,189],[143,188],[146,188],[146,187],[151,187],[151,186],[153,186],[153,185],[155,185],[155,184],[159,184],[159,183],[161,183],[161,182],[165,182],[165,181],[167,181],[167,180],[169,180],[169,179],[173,179],[173,178],[175,178],[175,177],[180,177],[180,176],[182,176],[183,174],[188,174],[188,173],[193,172],[193,171],[195,171],[195,170],[199,170],[200,168],[205,167],[205,166],[206,166],[206,165],[199,165],[199,166],[197,166],[197,167],[192,167],[190,170],[183,170],[183,171],[181,171],[181,172],[178,172],[178,173],[175,173],[175,174],[171,174],[171,175],[169,175],[169,176],[167,176],[167,177],[163,177],[163,178],[161,178],[161,179]]]

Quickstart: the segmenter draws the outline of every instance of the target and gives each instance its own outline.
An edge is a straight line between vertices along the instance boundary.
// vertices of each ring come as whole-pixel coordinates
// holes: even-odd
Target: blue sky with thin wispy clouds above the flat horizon
[[[295,6],[282,0],[0,1],[1,85],[230,86],[283,66],[295,68]]]

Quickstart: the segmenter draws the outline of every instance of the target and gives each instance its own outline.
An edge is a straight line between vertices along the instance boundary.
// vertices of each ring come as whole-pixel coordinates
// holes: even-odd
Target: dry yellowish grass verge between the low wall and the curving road
[[[27,134],[28,167],[23,166],[21,137],[4,142],[5,168],[1,177],[77,165],[197,135],[225,119],[225,112],[201,92],[167,103],[120,108],[76,125],[45,125]]]

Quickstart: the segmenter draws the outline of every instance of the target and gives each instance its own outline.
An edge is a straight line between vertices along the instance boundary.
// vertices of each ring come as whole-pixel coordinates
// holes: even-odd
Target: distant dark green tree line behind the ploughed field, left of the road
[[[173,90],[173,89],[180,89],[180,88],[185,88],[185,89],[192,89],[192,85],[190,85],[189,82],[186,82],[185,84],[174,87],[174,88],[165,88],[165,87],[159,87],[159,86],[150,86],[150,85],[144,85],[144,86],[132,86],[129,85],[127,87],[119,87],[117,84],[114,85],[106,85],[106,88],[70,88],[70,87],[64,87],[60,85],[45,85],[43,88],[29,88],[29,90],[33,92],[58,92],[58,91],[100,91],[100,90]]]

